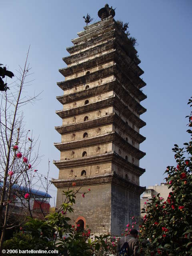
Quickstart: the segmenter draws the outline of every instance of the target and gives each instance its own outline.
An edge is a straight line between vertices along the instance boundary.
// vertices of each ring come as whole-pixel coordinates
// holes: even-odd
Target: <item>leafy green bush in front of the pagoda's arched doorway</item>
[[[73,182],[72,186],[76,186]],[[110,234],[95,236],[91,239],[91,230],[78,231],[78,224],[71,225],[69,212],[73,212],[73,204],[78,190],[63,191],[66,197],[60,209],[46,216],[46,220],[32,219],[20,227],[20,232],[16,233],[10,240],[4,242],[4,250],[57,250],[58,255],[63,256],[107,256],[114,250],[110,240]],[[82,196],[86,197],[83,192]],[[53,255],[57,255],[53,253]]]

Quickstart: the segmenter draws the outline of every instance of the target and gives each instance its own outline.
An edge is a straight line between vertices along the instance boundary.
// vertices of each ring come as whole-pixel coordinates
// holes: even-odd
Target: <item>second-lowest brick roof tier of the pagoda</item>
[[[122,156],[116,154],[116,152],[114,151],[100,154],[98,156],[53,161],[58,169],[70,169],[90,165],[106,164],[110,162],[117,164],[118,166],[124,168],[125,170],[128,170],[129,172],[137,174],[138,176],[141,176],[145,172],[145,169],[128,162],[127,160],[122,158]]]

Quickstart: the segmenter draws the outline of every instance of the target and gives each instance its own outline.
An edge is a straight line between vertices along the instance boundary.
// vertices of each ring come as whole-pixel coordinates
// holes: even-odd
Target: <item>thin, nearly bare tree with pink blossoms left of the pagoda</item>
[[[2,78],[14,75],[5,67],[0,67],[0,76],[2,76],[0,82],[5,88],[1,92],[0,103],[0,251],[6,230],[13,228],[16,223],[20,225],[18,219],[21,212],[22,221],[28,214],[33,217],[30,206],[31,189],[33,182],[41,181],[41,176],[33,169],[40,160],[38,150],[33,151],[37,140],[32,138],[32,132],[26,131],[23,124],[22,106],[28,102],[34,102],[39,95],[29,97],[24,92],[26,85],[31,82],[26,81],[26,78],[30,76],[28,54],[29,49],[24,68],[19,67],[16,84],[9,91],[7,83],[4,84]],[[20,207],[16,212],[15,223],[12,212],[16,208],[14,206],[16,202],[20,204]]]

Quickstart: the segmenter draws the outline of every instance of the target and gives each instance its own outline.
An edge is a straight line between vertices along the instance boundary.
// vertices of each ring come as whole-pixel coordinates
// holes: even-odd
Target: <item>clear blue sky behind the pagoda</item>
[[[0,1],[0,62],[16,72],[31,45],[29,61],[35,80],[28,90],[31,95],[43,93],[40,101],[24,109],[26,128],[40,138],[44,157],[38,170],[46,173],[49,158],[53,178],[58,178],[58,169],[52,160],[60,159],[53,143],[61,141],[54,126],[62,124],[55,114],[62,109],[56,100],[62,90],[56,82],[64,80],[58,69],[66,66],[62,61],[69,55],[66,47],[85,26],[82,16],[89,13],[97,22],[97,12],[105,4],[101,0]],[[148,98],[142,102],[147,112],[141,116],[147,125],[140,130],[146,136],[140,146],[146,152],[140,161],[146,172],[140,185],[160,184],[166,166],[174,164],[173,144],[182,146],[189,139],[185,116],[192,96],[192,1],[111,0],[108,4],[116,7],[116,20],[129,22],[130,33],[138,40],[142,78],[147,83]],[[49,193],[56,196],[56,188],[52,186]]]

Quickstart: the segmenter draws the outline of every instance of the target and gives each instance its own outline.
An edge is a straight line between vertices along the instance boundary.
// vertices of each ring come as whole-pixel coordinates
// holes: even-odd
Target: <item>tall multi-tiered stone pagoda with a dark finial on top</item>
[[[65,80],[58,82],[64,91],[57,100],[63,105],[56,114],[62,126],[55,129],[61,142],[57,207],[63,202],[62,191],[80,188],[76,196],[72,222],[86,225],[94,234],[120,235],[132,216],[140,216],[139,177],[145,169],[139,160],[145,155],[139,145],[145,140],[140,128],[146,125],[140,115],[146,99],[140,78],[137,51],[114,20],[115,12],[106,5],[101,20],[84,27],[67,48],[68,65],[60,69]],[[88,192],[90,189],[90,192]],[[83,192],[88,192],[82,196]]]

